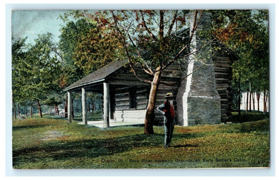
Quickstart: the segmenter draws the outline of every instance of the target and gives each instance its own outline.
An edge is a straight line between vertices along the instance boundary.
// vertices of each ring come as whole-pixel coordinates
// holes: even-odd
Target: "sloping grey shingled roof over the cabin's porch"
[[[116,72],[118,69],[120,69],[127,63],[128,63],[127,60],[116,59],[116,60],[110,62],[109,64],[105,65],[104,67],[92,72],[88,76],[85,76],[84,78],[71,84],[66,89],[64,89],[64,91],[69,91],[76,87],[93,84],[95,82],[104,81],[106,77],[113,74],[114,72]]]

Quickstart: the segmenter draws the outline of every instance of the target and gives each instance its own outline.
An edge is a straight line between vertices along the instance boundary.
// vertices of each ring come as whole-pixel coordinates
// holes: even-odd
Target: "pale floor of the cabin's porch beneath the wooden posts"
[[[78,123],[82,124],[82,122]],[[104,122],[103,121],[87,121],[88,126],[95,126],[99,128],[104,128]],[[110,127],[115,127],[115,126],[128,126],[128,125],[144,125],[144,120],[142,121],[126,121],[126,122],[119,122],[115,120],[110,120],[109,121],[109,126]]]

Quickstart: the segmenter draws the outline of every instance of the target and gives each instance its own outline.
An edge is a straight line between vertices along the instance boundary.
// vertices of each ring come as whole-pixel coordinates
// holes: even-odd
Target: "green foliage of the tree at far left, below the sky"
[[[25,57],[19,58],[16,64],[18,76],[12,77],[16,82],[13,87],[16,92],[13,93],[25,101],[44,100],[59,90],[57,79],[61,65],[51,55],[51,48],[46,43],[49,38],[49,34],[39,35],[35,44],[28,48]]]

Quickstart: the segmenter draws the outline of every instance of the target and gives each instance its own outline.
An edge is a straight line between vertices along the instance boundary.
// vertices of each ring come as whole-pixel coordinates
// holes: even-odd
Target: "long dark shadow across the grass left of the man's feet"
[[[48,141],[45,144],[35,147],[26,147],[13,150],[13,159],[28,153],[39,155],[41,158],[51,157],[54,160],[66,160],[79,157],[99,157],[105,155],[113,155],[132,150],[137,147],[157,147],[163,142],[163,135],[145,135],[137,134],[132,136],[124,136],[117,138],[98,138],[92,140],[76,140],[76,141]],[[36,157],[38,158],[38,157]],[[16,160],[15,160],[16,161]],[[14,162],[14,161],[13,161]]]

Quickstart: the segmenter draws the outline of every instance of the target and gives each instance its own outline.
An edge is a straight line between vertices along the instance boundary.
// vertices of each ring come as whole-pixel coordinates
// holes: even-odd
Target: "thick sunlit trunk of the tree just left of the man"
[[[154,109],[156,104],[156,96],[157,96],[157,90],[160,82],[160,77],[161,77],[161,71],[160,68],[157,67],[156,72],[154,74],[153,81],[151,83],[148,105],[146,108],[145,127],[144,127],[145,134],[154,134],[153,131],[153,121],[155,120]]]

